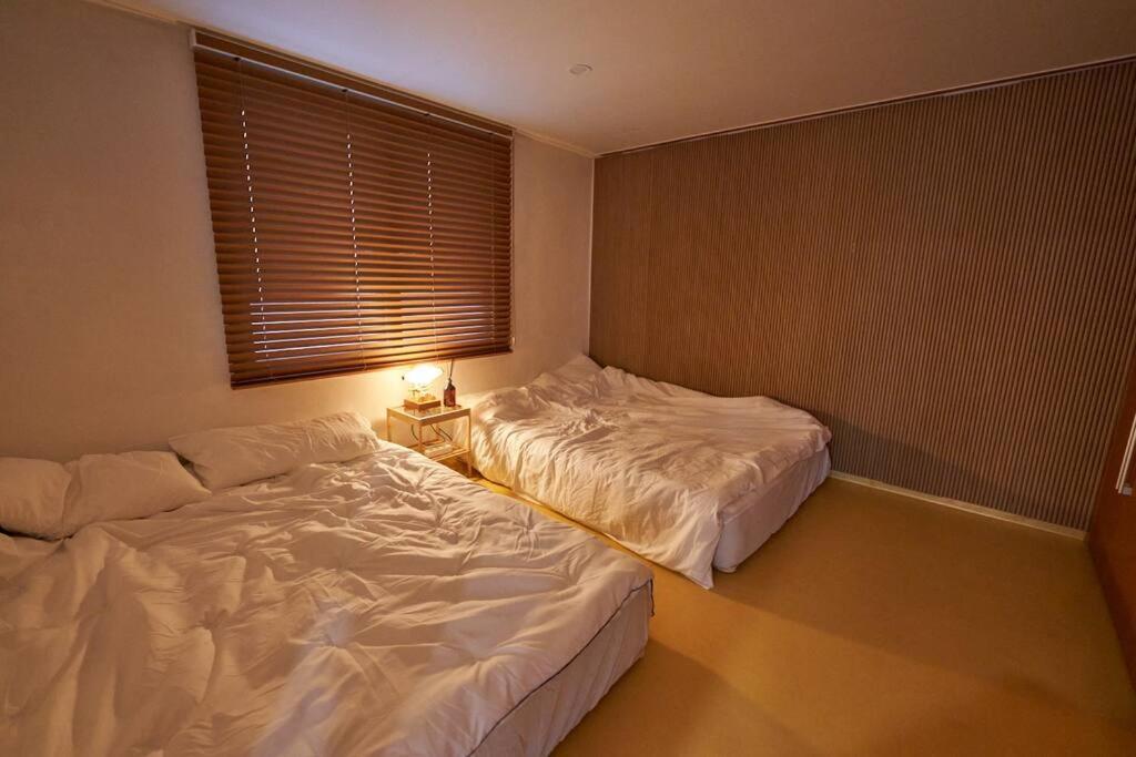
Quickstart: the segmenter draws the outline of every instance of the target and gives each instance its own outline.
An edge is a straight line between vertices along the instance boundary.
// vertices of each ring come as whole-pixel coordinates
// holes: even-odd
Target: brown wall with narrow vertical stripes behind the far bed
[[[592,264],[599,361],[1086,528],[1136,346],[1136,64],[601,158]]]

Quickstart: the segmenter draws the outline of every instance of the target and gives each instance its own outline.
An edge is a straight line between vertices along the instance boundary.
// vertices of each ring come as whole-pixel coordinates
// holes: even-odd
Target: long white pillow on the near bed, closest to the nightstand
[[[169,446],[193,463],[214,491],[279,476],[308,463],[336,463],[375,452],[378,437],[359,413],[309,421],[211,429],[176,436]]]

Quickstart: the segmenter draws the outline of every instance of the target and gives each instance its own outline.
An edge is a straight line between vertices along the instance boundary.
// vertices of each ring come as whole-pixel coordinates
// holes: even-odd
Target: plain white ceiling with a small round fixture
[[[1134,0],[103,2],[593,154],[1136,53]]]

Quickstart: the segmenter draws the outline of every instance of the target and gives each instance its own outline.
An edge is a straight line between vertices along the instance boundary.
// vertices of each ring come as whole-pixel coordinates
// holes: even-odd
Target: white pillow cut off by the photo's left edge
[[[0,528],[14,533],[61,539],[64,501],[70,473],[50,460],[0,457]]]

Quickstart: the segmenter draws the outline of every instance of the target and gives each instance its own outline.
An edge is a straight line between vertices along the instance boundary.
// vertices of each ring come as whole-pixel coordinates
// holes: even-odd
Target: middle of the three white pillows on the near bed
[[[68,533],[95,521],[145,518],[209,498],[172,452],[83,455],[67,463],[64,523]]]

